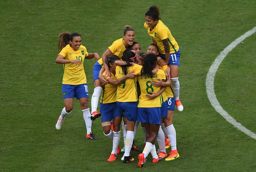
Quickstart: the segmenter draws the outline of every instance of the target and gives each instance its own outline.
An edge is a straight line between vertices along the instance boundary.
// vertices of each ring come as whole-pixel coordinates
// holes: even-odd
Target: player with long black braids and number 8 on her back
[[[161,69],[158,69],[156,74],[152,74],[152,70],[156,67],[156,65],[156,55],[146,55],[140,76],[138,76],[140,86],[138,121],[143,123],[147,133],[144,150],[138,155],[138,166],[140,168],[143,167],[149,152],[152,154],[153,163],[156,163],[159,160],[156,153],[155,140],[161,125],[161,94],[164,92],[165,88],[155,87],[151,85],[151,81],[157,80],[157,78],[165,80],[166,77],[164,71]]]

